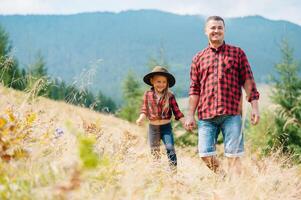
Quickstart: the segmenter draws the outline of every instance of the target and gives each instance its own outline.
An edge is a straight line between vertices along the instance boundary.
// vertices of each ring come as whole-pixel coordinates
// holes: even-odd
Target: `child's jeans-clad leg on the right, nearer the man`
[[[174,147],[174,137],[171,124],[161,125],[161,139],[165,145],[169,164],[172,169],[177,167],[177,155]]]

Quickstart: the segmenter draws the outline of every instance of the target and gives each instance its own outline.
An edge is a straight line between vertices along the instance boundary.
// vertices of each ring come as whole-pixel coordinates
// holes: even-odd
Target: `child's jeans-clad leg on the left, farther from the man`
[[[151,154],[155,160],[160,159],[160,126],[157,125],[149,125],[148,129],[148,139],[151,148]]]

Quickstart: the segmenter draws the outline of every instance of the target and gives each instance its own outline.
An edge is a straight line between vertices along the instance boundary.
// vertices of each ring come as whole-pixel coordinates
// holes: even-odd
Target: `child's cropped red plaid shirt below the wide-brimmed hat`
[[[169,97],[169,104],[164,108],[164,98],[157,99],[153,88],[146,91],[143,96],[141,113],[144,113],[149,120],[170,119],[172,112],[176,120],[184,117],[183,113],[179,109],[174,94],[168,92],[167,96]]]

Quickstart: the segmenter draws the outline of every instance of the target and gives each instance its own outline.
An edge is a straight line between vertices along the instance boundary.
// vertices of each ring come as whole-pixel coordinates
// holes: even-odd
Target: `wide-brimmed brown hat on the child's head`
[[[153,86],[150,80],[151,80],[151,78],[152,78],[153,76],[155,76],[155,75],[165,76],[165,77],[167,78],[169,87],[174,86],[175,83],[176,83],[175,77],[174,77],[172,74],[170,74],[170,73],[167,71],[166,68],[161,67],[161,66],[156,66],[156,67],[154,67],[154,69],[153,69],[150,73],[146,74],[146,75],[143,77],[143,81],[144,81],[146,84],[148,84],[148,85],[150,85],[150,86]]]

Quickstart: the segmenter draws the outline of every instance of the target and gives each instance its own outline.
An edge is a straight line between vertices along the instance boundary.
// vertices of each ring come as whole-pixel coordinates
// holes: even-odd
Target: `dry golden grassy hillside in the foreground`
[[[204,166],[195,148],[177,147],[178,173],[171,176],[165,156],[152,163],[146,127],[62,102],[32,100],[3,87],[0,95],[5,126],[16,124],[13,132],[28,134],[15,141],[27,155],[0,163],[1,199],[300,198],[301,168],[287,164],[285,157],[259,159],[247,148],[241,178],[222,179]],[[85,154],[91,138],[97,158]]]

